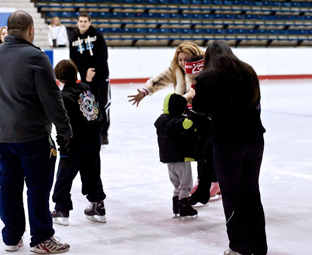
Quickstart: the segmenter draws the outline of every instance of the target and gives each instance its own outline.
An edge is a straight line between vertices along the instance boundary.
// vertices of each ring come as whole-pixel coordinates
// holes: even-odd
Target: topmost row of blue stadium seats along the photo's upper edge
[[[195,4],[195,5],[248,5],[248,6],[273,6],[273,7],[312,7],[312,2],[307,1],[253,1],[253,0],[37,0],[38,2],[89,2],[89,3],[130,3],[130,4]]]

